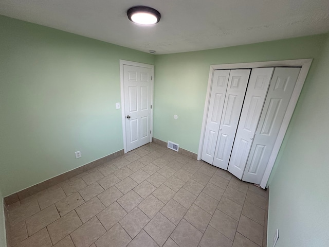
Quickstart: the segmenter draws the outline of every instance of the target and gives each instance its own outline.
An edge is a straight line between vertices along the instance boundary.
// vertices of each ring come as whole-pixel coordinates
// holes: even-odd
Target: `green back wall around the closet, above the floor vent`
[[[314,75],[325,37],[322,34],[156,56],[154,137],[197,153],[211,64],[314,58],[307,84]]]

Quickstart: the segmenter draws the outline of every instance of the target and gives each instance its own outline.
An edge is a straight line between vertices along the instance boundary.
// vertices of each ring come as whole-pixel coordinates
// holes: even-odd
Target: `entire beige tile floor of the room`
[[[10,244],[265,246],[266,206],[265,190],[148,144],[10,205]]]

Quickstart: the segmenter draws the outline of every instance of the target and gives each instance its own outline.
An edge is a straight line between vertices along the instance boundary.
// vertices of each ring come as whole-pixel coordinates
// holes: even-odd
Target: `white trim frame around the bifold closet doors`
[[[293,95],[291,95],[287,111],[284,115],[282,125],[280,128],[280,131],[278,133],[277,140],[275,142],[275,145],[273,147],[271,156],[269,158],[269,162],[267,164],[265,173],[263,175],[263,179],[261,182],[261,187],[265,189],[269,176],[271,174],[273,165],[276,161],[277,155],[279,153],[284,135],[287,131],[291,116],[293,116],[298,97],[302,91],[304,82],[306,80],[306,76],[309,70],[310,65],[312,64],[313,59],[297,59],[297,60],[282,60],[282,61],[269,61],[269,62],[253,62],[253,63],[232,63],[232,64],[215,64],[210,65],[210,71],[209,71],[209,78],[208,78],[208,87],[207,87],[207,94],[206,94],[206,102],[205,102],[205,108],[204,108],[204,116],[202,120],[202,128],[201,128],[201,134],[200,134],[200,141],[199,141],[199,149],[197,153],[197,160],[201,159],[202,149],[203,149],[203,142],[204,142],[204,135],[206,130],[206,121],[207,121],[207,115],[208,115],[208,108],[209,108],[209,101],[210,101],[210,92],[211,92],[211,86],[212,86],[212,77],[214,70],[216,69],[239,69],[239,68],[262,68],[262,67],[301,67]]]

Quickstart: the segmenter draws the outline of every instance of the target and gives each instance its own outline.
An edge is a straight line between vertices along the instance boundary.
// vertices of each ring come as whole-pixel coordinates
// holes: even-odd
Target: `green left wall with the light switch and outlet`
[[[154,55],[5,16],[0,37],[3,196],[123,149],[119,59]]]

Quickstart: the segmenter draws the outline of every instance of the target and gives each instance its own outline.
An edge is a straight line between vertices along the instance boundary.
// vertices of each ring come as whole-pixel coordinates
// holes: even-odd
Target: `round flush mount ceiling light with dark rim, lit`
[[[127,16],[134,23],[152,25],[160,21],[161,14],[156,9],[147,6],[136,6],[127,11]]]

